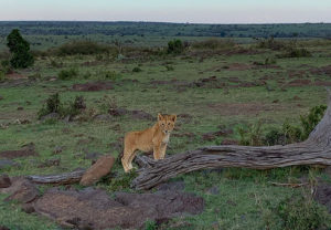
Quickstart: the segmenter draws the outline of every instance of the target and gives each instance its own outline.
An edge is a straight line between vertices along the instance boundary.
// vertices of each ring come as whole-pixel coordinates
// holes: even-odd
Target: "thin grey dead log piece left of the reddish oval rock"
[[[67,174],[50,176],[28,176],[26,178],[35,184],[70,185],[78,182],[85,171],[85,169],[79,169]]]

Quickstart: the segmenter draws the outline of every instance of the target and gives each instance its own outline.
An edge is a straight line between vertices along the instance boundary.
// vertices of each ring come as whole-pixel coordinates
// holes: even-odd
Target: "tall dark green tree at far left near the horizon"
[[[18,29],[11,31],[7,36],[7,46],[12,56],[10,64],[14,69],[25,69],[34,63],[34,58],[30,53],[30,44],[24,40]]]

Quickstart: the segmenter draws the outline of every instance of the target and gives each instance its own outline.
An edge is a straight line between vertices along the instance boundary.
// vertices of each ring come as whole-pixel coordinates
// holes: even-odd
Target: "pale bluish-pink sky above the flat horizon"
[[[0,0],[0,21],[331,22],[331,0]]]

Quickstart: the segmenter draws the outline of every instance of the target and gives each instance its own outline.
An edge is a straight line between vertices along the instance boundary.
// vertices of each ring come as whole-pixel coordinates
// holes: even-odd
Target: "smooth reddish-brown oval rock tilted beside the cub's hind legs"
[[[97,182],[102,177],[110,172],[115,158],[113,156],[100,157],[87,171],[83,175],[79,185],[90,186]]]

